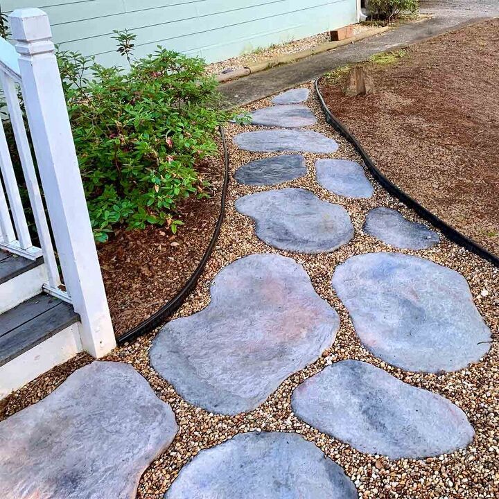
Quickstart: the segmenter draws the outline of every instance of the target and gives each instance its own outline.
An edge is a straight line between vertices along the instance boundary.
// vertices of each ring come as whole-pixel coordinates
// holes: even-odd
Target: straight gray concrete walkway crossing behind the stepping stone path
[[[327,71],[352,62],[368,59],[378,52],[400,49],[447,31],[499,16],[499,2],[494,0],[421,0],[421,13],[431,19],[404,24],[382,35],[362,40],[333,51],[286,64],[268,71],[239,78],[222,85],[222,94],[231,105],[245,105],[319,78]]]

